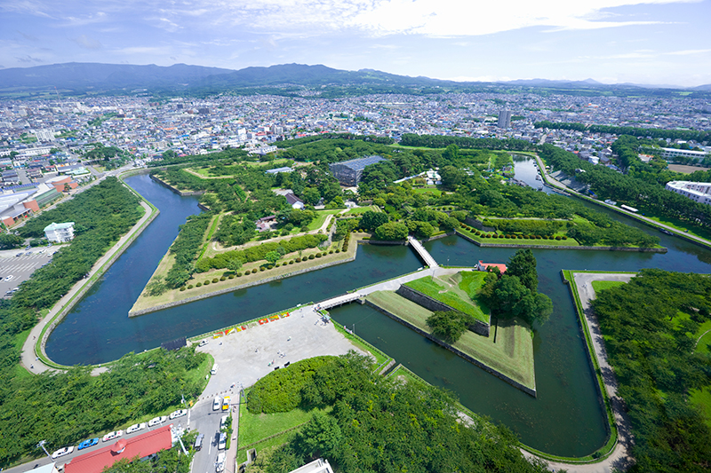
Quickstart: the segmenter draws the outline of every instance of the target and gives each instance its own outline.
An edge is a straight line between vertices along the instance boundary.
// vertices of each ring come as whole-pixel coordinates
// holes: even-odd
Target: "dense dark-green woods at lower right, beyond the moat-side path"
[[[697,341],[711,328],[709,295],[707,275],[648,269],[592,302],[632,422],[631,471],[711,466],[711,419],[691,402],[711,386],[709,347]]]

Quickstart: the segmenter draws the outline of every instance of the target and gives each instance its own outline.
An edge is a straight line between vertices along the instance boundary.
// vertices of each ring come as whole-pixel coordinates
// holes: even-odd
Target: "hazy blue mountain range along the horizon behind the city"
[[[592,79],[459,83],[421,76],[387,74],[372,69],[346,71],[321,65],[302,64],[231,70],[186,64],[162,67],[70,62],[50,66],[0,69],[0,96],[43,97],[54,94],[55,88],[56,93],[64,96],[144,93],[158,97],[199,96],[228,91],[242,94],[304,95],[305,90],[310,90],[321,97],[336,97],[388,92],[426,94],[442,91],[497,91],[501,88],[544,89],[575,94],[587,92],[592,95],[595,95],[595,91],[598,93],[612,91],[624,95],[630,94],[630,91],[637,91],[643,94],[664,95],[673,90],[682,90],[629,83],[608,85]],[[706,92],[711,91],[711,84],[683,89],[683,91],[706,96]]]

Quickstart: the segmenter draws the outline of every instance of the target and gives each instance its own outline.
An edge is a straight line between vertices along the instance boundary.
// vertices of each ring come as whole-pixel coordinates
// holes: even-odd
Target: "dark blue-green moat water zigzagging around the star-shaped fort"
[[[534,165],[526,160],[515,164],[517,176],[520,167]],[[532,176],[535,179],[535,173]],[[152,349],[180,336],[203,334],[296,304],[323,300],[421,266],[409,248],[362,245],[356,261],[348,264],[129,319],[129,309],[170,247],[178,225],[199,210],[196,198],[171,193],[147,176],[129,177],[126,183],[156,205],[161,214],[52,332],[46,351],[58,363],[104,363],[130,351]],[[535,183],[539,181],[531,184]],[[647,254],[534,250],[539,290],[551,297],[555,307],[547,324],[534,327],[538,398],[516,390],[367,306],[349,304],[333,309],[332,316],[349,327],[355,324],[357,335],[427,382],[453,391],[472,411],[489,416],[494,422],[503,422],[526,445],[565,456],[589,454],[605,441],[604,412],[597,402],[595,378],[587,363],[571,296],[561,280],[560,270],[660,268],[711,272],[711,251],[606,212],[628,225],[659,234],[661,244],[669,251]],[[425,246],[440,264],[462,266],[473,265],[480,259],[506,262],[515,252],[507,248],[479,248],[458,237],[431,241]]]

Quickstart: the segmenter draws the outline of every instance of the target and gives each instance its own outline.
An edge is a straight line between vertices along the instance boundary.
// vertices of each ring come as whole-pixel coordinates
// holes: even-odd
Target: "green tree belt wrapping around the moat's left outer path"
[[[76,223],[71,244],[23,282],[12,299],[0,302],[0,379],[4,380],[0,386],[0,465],[36,456],[39,440],[47,440],[49,448],[59,448],[112,430],[134,415],[176,406],[181,389],[186,396],[202,390],[199,376],[193,373],[204,362],[204,355],[192,351],[151,351],[148,358],[127,355],[97,377],[88,367],[30,375],[19,365],[21,341],[40,312],[84,278],[142,215],[139,198],[115,177],[108,177],[73,200],[29,219],[18,230],[23,237],[37,238],[44,236],[44,227],[52,222]]]

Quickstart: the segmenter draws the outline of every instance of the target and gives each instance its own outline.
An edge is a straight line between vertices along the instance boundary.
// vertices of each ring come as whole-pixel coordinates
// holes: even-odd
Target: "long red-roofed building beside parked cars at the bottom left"
[[[120,438],[116,443],[99,450],[73,458],[64,465],[65,473],[101,473],[104,467],[110,467],[124,458],[145,458],[161,450],[172,447],[171,426],[146,432],[133,438]]]

